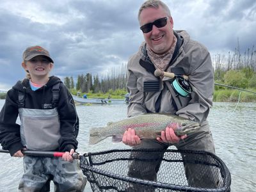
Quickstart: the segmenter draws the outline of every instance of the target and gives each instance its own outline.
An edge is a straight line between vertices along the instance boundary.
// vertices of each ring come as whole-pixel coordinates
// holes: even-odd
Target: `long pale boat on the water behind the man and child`
[[[81,104],[127,104],[125,99],[100,99],[100,98],[82,98],[72,95],[74,101]]]

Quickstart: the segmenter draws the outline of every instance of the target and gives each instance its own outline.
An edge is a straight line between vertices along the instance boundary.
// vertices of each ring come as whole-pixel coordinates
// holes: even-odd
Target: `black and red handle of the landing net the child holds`
[[[0,149],[1,153],[10,153],[9,150]],[[21,150],[22,154],[27,156],[43,156],[43,157],[62,157],[65,152],[54,151],[37,151],[37,150]],[[72,154],[73,159],[79,159],[79,154]]]

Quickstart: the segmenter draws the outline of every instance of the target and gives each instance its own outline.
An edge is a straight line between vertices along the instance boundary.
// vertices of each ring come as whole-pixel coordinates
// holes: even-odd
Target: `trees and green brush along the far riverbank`
[[[234,52],[228,54],[215,54],[212,57],[214,68],[214,81],[218,84],[234,86],[244,90],[256,92],[256,50],[252,48],[241,52],[239,42]],[[92,76],[90,72],[77,76],[74,83],[73,77],[65,77],[64,83],[72,94],[81,92],[89,97],[104,97],[112,95],[115,98],[123,97],[127,92],[127,65],[112,68],[107,75]],[[215,86],[214,101],[236,101],[241,91],[229,89],[224,86]],[[243,94],[242,101],[256,100],[256,94]]]

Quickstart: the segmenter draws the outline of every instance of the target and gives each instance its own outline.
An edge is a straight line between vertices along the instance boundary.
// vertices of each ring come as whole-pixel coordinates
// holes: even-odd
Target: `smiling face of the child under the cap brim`
[[[30,76],[33,77],[48,77],[52,69],[52,63],[45,56],[35,56],[26,63],[22,63],[22,67],[28,70]]]

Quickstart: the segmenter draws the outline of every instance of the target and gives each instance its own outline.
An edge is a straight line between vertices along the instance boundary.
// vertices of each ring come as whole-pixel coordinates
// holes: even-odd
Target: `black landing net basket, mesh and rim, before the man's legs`
[[[209,152],[108,150],[80,166],[93,191],[230,191],[227,166]]]

